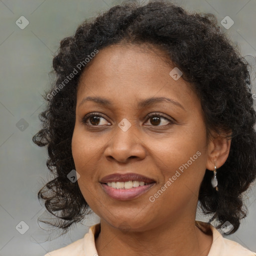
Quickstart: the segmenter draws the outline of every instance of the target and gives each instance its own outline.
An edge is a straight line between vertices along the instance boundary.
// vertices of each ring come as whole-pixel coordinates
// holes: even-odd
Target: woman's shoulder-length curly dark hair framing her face
[[[33,136],[35,144],[47,146],[46,165],[54,175],[39,190],[38,199],[45,200],[47,211],[58,221],[42,222],[66,232],[89,212],[78,183],[71,182],[67,174],[75,169],[71,138],[77,84],[90,62],[76,68],[77,73],[65,86],[56,88],[95,49],[122,42],[148,43],[168,54],[200,98],[207,135],[210,130],[218,134],[231,130],[228,158],[217,171],[218,191],[210,185],[212,171],[206,169],[198,201],[203,213],[212,215],[210,221],[218,222],[217,228],[228,220],[234,226],[229,234],[234,233],[247,214],[242,192],[256,176],[256,115],[249,63],[213,14],[188,12],[166,0],[123,2],[83,21],[74,35],[60,41],[53,57],[55,79],[43,95],[47,107],[39,114],[42,126]]]

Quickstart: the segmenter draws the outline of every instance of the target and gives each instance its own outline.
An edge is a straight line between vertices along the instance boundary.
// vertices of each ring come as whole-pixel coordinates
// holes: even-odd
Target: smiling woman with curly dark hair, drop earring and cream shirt
[[[33,137],[55,178],[38,198],[63,232],[89,209],[100,223],[46,255],[255,255],[220,233],[256,175],[247,65],[213,15],[168,1],[114,6],[61,40]]]

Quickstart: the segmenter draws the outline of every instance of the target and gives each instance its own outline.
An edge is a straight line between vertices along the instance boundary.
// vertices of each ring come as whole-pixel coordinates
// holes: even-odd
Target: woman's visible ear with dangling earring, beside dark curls
[[[226,161],[231,144],[231,138],[229,133],[211,135],[208,142],[208,157],[206,161],[206,168],[208,170],[214,170],[214,164],[216,168],[219,168]],[[228,137],[226,137],[228,135]]]

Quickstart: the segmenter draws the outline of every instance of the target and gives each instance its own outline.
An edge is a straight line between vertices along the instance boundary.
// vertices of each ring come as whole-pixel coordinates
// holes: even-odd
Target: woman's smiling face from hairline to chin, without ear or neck
[[[209,161],[199,98],[175,69],[169,74],[175,66],[161,52],[143,49],[108,46],[91,60],[78,84],[72,137],[90,208],[111,226],[137,231],[194,221]]]

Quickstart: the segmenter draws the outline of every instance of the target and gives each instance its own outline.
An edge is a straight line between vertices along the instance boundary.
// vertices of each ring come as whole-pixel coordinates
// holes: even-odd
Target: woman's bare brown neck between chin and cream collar
[[[207,256],[212,243],[212,235],[204,234],[194,220],[170,221],[144,231],[121,231],[102,220],[100,226],[95,240],[100,256]]]

